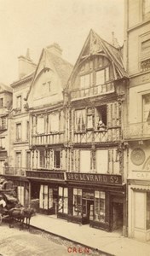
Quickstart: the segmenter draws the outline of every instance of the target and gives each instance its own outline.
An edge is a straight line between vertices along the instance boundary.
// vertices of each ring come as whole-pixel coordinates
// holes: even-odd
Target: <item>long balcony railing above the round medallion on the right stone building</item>
[[[124,138],[126,139],[150,138],[150,124],[148,124],[147,122],[129,124],[124,129]]]

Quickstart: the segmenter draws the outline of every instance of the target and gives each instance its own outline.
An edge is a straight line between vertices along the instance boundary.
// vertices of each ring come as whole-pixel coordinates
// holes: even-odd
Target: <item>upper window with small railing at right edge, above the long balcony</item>
[[[149,35],[150,36],[150,35]],[[150,69],[150,39],[141,42],[141,71]]]

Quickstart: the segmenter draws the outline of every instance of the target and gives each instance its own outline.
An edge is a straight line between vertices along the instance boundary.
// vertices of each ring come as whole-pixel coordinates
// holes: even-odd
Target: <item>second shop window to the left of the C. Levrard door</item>
[[[58,212],[68,213],[68,189],[59,187]]]

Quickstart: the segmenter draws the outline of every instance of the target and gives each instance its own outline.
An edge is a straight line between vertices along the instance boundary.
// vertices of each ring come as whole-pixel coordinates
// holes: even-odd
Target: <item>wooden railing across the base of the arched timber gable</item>
[[[95,95],[99,95],[107,92],[113,92],[113,91],[114,91],[113,82],[107,83],[107,84],[100,84],[100,85],[92,86],[89,88],[73,90],[72,99],[80,98],[84,96],[95,96]]]

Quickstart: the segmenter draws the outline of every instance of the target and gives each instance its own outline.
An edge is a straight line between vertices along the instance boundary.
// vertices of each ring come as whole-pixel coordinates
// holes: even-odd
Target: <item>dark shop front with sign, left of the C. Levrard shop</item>
[[[26,171],[30,182],[30,203],[37,212],[57,214],[59,186],[65,183],[64,172]]]

